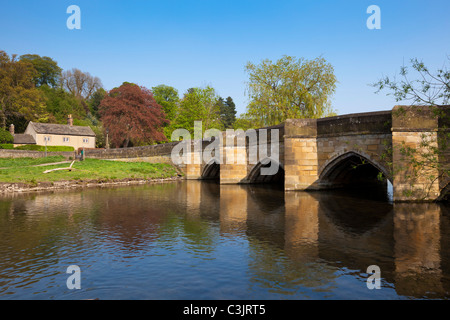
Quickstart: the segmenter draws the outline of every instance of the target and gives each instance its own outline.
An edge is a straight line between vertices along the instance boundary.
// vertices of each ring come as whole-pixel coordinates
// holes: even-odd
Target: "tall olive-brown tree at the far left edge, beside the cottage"
[[[41,92],[36,88],[34,79],[37,71],[27,61],[11,58],[0,51],[0,117],[1,126],[6,129],[10,118],[42,120],[45,105]]]

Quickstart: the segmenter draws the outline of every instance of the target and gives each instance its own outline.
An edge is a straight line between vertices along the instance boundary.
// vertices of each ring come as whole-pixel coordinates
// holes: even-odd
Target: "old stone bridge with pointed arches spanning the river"
[[[190,150],[192,161],[184,170],[187,179],[218,179],[221,184],[280,182],[286,191],[387,186],[388,180],[394,201],[436,200],[448,189],[445,171],[449,157],[440,154],[437,166],[423,162],[419,168],[405,150],[425,154],[437,146],[438,138],[447,131],[444,118],[429,108],[396,106],[390,111],[292,119],[256,130],[257,141],[247,136],[245,145],[237,138],[225,142],[227,134],[223,133],[222,161],[199,161],[211,143],[203,140],[201,151]],[[267,139],[262,139],[266,134]],[[275,143],[278,155],[272,157]],[[267,153],[252,155],[255,144],[266,147]],[[262,174],[263,168],[271,165],[279,168],[277,173]]]

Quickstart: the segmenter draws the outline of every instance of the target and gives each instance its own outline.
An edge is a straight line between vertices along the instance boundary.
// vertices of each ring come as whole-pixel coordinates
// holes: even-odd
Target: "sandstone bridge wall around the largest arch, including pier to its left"
[[[349,155],[363,158],[390,178],[390,112],[288,120],[285,126],[286,190],[335,187],[327,174]]]

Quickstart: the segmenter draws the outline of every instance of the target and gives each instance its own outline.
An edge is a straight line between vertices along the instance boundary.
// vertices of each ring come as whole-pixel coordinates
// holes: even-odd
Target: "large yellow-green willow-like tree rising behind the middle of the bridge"
[[[283,56],[276,63],[247,63],[247,114],[260,127],[289,118],[320,118],[331,111],[336,89],[334,68],[323,58]]]

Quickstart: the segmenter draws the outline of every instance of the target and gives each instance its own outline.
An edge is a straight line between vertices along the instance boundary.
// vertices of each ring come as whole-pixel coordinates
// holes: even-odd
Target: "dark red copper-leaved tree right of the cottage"
[[[167,140],[163,134],[166,115],[145,87],[125,82],[112,89],[100,103],[99,113],[116,147],[126,148],[130,141],[151,144]]]

